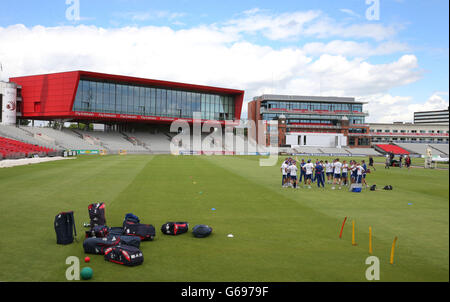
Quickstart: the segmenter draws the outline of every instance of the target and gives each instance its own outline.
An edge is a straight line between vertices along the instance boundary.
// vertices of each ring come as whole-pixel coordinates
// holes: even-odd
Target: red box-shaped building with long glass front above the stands
[[[169,124],[239,120],[243,90],[70,71],[15,77],[21,86],[18,117],[36,120]]]

